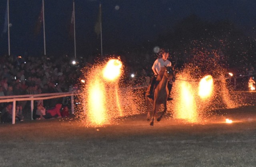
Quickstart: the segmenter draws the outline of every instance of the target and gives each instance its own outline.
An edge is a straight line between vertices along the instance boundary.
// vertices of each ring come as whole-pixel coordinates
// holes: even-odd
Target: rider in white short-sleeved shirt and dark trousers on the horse
[[[150,84],[150,90],[149,90],[150,94],[148,95],[149,98],[152,98],[152,99],[154,98],[154,91],[153,91],[154,90],[154,84],[156,83],[156,78],[157,78],[158,73],[160,72],[161,67],[172,66],[172,63],[169,60],[167,60],[168,56],[169,56],[168,51],[163,49],[162,50],[162,58],[156,59],[156,61],[154,62],[153,66],[152,66],[152,70],[154,72],[154,77],[153,77],[153,79],[151,81],[151,84]],[[167,100],[169,101],[169,100],[173,99],[173,98],[170,98],[170,92],[172,90],[172,84],[170,84],[168,82],[167,87],[168,87],[168,90],[169,90]]]

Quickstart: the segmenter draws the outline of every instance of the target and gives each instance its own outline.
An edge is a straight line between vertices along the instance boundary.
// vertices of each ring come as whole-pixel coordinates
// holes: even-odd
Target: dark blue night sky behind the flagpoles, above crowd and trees
[[[100,38],[94,32],[99,0],[75,0],[77,56],[100,53]],[[191,14],[215,22],[230,20],[248,35],[255,35],[255,0],[102,0],[103,54],[172,31],[173,26]],[[10,0],[11,55],[43,55],[43,28],[38,36],[34,27],[42,0]],[[46,54],[74,55],[69,28],[72,0],[44,0]],[[8,53],[7,33],[2,34],[6,0],[0,0],[0,55]],[[157,45],[157,43],[156,43]]]

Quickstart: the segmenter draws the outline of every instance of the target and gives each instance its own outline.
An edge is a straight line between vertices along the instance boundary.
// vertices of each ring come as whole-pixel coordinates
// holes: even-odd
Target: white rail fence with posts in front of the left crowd
[[[47,100],[52,98],[71,96],[71,111],[72,114],[74,114],[74,96],[78,94],[78,92],[63,92],[45,94],[26,94],[18,96],[0,96],[0,103],[12,102],[12,124],[15,124],[16,101],[31,101],[31,120],[33,120],[34,100]]]

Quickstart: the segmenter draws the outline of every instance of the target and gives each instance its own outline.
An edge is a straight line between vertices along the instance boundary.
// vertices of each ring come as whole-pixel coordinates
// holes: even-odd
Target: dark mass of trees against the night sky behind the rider
[[[140,50],[152,50],[155,45],[169,49],[172,61],[180,67],[200,55],[217,54],[231,69],[254,67],[256,62],[255,39],[246,36],[228,20],[208,22],[195,15],[188,16],[152,43],[144,43]]]

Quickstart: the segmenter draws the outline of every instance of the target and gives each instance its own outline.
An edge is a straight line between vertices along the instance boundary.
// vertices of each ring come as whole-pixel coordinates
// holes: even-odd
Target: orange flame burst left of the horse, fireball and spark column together
[[[122,116],[118,97],[122,62],[110,59],[104,67],[93,68],[90,73],[93,75],[86,84],[86,124],[94,127],[111,124],[113,118]]]

